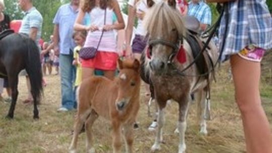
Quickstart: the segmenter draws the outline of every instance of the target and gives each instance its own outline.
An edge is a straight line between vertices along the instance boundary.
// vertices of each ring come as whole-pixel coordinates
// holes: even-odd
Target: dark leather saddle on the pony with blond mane
[[[207,52],[207,49],[199,54],[199,52],[203,49],[204,43],[200,40],[200,22],[193,16],[184,16],[183,23],[185,28],[188,30],[185,40],[191,47],[193,58],[197,58],[195,61],[197,69],[200,74],[205,74],[212,68],[213,62]],[[208,76],[209,75],[207,75],[207,77]]]

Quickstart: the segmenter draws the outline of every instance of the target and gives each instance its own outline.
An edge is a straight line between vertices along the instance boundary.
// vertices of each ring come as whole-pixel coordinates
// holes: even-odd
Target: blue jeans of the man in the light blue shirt
[[[74,81],[76,78],[76,67],[72,65],[73,53],[59,55],[60,79],[61,79],[61,105],[72,110],[77,106],[74,94]]]

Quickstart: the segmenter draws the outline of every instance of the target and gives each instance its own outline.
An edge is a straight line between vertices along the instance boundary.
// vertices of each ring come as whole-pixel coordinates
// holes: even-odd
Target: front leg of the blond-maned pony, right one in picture
[[[186,116],[188,112],[188,97],[186,95],[182,97],[181,101],[179,101],[179,118],[178,118],[178,130],[179,130],[179,145],[178,145],[178,153],[185,152],[185,131],[186,131]]]

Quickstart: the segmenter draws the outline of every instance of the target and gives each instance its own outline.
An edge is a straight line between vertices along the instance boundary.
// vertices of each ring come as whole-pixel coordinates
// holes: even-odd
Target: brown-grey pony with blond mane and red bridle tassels
[[[160,149],[163,139],[162,127],[164,125],[164,108],[167,100],[174,100],[179,104],[179,153],[185,151],[185,130],[186,115],[188,111],[191,94],[196,95],[198,112],[200,119],[200,132],[207,134],[206,108],[209,101],[209,83],[212,82],[213,75],[201,72],[197,67],[198,60],[194,61],[193,52],[195,46],[189,45],[189,32],[185,29],[183,19],[178,10],[175,9],[175,1],[158,2],[145,17],[146,29],[149,34],[150,56],[144,60],[144,71],[149,75],[154,86],[155,99],[159,106],[158,131],[152,150]],[[206,38],[199,38],[196,35],[199,46],[201,42],[206,42]],[[199,49],[198,51],[200,51]],[[182,52],[183,51],[183,52]],[[215,44],[210,42],[205,55],[210,55],[210,62],[215,63],[218,52]],[[179,58],[178,58],[179,57]],[[180,60],[181,57],[181,60]],[[199,59],[199,58],[198,58]],[[204,63],[202,63],[204,64]],[[191,65],[191,66],[188,66]],[[201,66],[201,65],[200,65]],[[212,66],[207,64],[207,68]],[[206,75],[203,75],[206,74]]]

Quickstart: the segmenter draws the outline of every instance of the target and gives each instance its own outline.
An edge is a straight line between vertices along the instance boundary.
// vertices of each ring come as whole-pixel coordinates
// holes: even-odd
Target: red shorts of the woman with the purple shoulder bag
[[[115,52],[98,51],[94,58],[82,59],[82,67],[96,68],[101,70],[115,70],[118,54]]]

